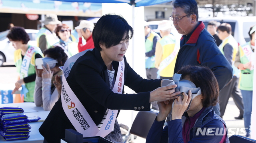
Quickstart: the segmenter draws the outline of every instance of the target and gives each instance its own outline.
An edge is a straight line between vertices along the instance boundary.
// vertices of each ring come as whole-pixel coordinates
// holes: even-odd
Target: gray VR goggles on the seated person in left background
[[[47,69],[46,64],[48,64],[50,69],[52,69],[56,66],[56,63],[58,63],[58,60],[52,59],[50,57],[44,57],[44,58],[37,58],[35,63],[36,63],[37,69],[43,69],[42,65]]]

